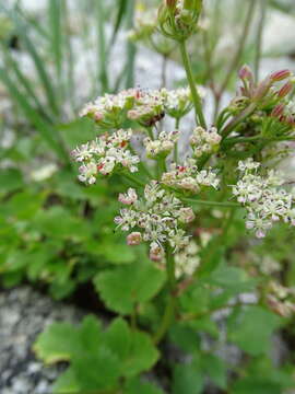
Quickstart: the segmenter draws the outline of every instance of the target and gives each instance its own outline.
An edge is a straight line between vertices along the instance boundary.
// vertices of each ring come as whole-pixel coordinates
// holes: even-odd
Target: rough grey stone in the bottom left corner
[[[47,394],[62,367],[45,367],[32,346],[52,322],[79,323],[83,312],[28,287],[0,293],[0,393]]]

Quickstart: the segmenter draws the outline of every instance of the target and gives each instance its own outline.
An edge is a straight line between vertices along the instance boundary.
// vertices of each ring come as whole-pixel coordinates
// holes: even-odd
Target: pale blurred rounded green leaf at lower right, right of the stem
[[[269,350],[271,335],[280,323],[279,316],[261,306],[247,306],[229,316],[228,339],[258,356]]]

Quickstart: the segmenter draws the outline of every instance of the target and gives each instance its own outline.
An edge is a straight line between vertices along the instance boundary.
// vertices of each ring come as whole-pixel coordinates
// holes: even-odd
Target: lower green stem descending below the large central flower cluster
[[[167,279],[168,279],[168,290],[169,290],[169,299],[164,312],[163,320],[161,322],[161,325],[158,327],[158,331],[154,335],[154,344],[157,345],[167,331],[169,329],[169,326],[173,323],[173,320],[175,317],[175,309],[176,309],[176,278],[175,278],[175,260],[172,247],[167,245],[166,248],[166,270],[167,270]]]

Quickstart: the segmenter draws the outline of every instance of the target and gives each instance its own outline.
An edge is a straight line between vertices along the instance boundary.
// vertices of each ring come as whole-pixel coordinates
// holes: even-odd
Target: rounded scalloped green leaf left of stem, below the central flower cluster
[[[94,285],[110,310],[129,314],[137,303],[151,300],[164,281],[165,274],[150,262],[137,262],[98,274]]]

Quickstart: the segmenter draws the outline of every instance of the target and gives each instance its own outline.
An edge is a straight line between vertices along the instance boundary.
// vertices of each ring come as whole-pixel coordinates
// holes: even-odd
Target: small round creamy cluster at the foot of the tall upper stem
[[[210,130],[197,127],[190,137],[190,144],[192,147],[193,154],[197,158],[200,158],[203,153],[212,153],[216,151],[221,139],[221,135],[219,135],[215,127],[212,127]]]

